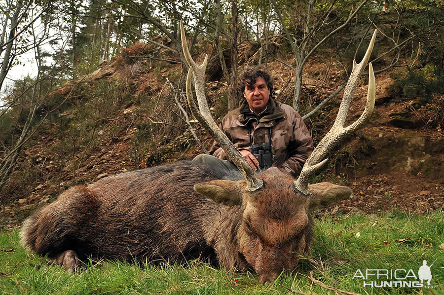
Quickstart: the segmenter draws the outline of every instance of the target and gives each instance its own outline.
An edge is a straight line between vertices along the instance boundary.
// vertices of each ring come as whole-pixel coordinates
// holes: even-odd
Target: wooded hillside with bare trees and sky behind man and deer
[[[303,115],[315,143],[330,128],[352,61],[359,62],[376,29],[375,113],[316,180],[353,186],[363,204],[355,199],[341,211],[440,209],[442,4],[1,1],[2,212],[15,220],[14,205],[32,209],[71,185],[190,158],[211,145],[185,104],[180,20],[191,53],[210,56],[207,95],[217,120],[242,99],[238,71],[265,64],[275,75],[277,99]],[[37,74],[6,79],[30,54]],[[366,74],[351,119],[362,109]],[[29,214],[28,207],[18,211]]]

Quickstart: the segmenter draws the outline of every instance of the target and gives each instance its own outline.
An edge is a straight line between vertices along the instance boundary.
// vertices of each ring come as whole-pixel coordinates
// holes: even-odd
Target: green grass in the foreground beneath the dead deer
[[[0,293],[290,294],[290,288],[306,294],[340,294],[314,283],[310,272],[328,286],[360,294],[444,292],[444,215],[440,211],[425,216],[324,216],[317,220],[316,236],[311,255],[302,257],[295,271],[262,286],[254,271],[233,274],[199,260],[184,266],[90,261],[87,270],[69,274],[46,258],[25,251],[18,230],[1,231]],[[431,268],[434,289],[371,288],[363,286],[362,278],[353,279],[357,269],[364,275],[366,269],[412,269],[417,276],[424,259],[428,265],[437,259]]]

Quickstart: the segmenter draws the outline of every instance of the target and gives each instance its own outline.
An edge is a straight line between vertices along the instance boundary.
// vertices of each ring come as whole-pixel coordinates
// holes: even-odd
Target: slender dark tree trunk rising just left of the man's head
[[[236,84],[237,84],[237,0],[231,2],[231,13],[233,16],[233,34],[231,35],[231,84],[228,95],[228,111],[238,107]]]

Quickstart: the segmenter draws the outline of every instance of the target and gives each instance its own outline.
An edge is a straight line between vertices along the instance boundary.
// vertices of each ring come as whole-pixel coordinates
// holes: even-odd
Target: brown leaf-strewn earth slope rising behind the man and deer
[[[69,100],[34,135],[19,160],[19,168],[3,189],[2,198],[9,200],[1,207],[3,226],[16,226],[36,207],[52,202],[75,184],[191,159],[202,152],[174,100],[178,90],[166,79],[173,84],[179,80],[182,66],[171,62],[178,58],[161,49],[157,60],[150,59],[146,57],[150,50],[151,46],[136,43],[92,74],[69,81],[48,96],[48,100]],[[251,46],[241,45],[241,69],[245,63],[256,61],[256,52]],[[326,62],[328,58],[319,56],[306,66],[302,113],[315,106],[315,94],[322,99],[343,81],[340,66],[332,62],[325,68]],[[268,66],[275,76],[278,99],[291,103],[290,71],[278,62]],[[353,188],[352,198],[331,208],[332,214],[443,210],[441,125],[425,119],[433,121],[428,108],[418,107],[420,97],[405,99],[394,94],[393,77],[402,71],[395,69],[376,75],[376,106],[369,123],[330,157],[328,167],[316,178]],[[216,62],[207,74],[208,98],[220,120],[226,113],[227,85]],[[366,93],[363,78],[354,94],[350,121],[363,110]],[[185,106],[182,93],[178,97]],[[331,127],[340,97],[306,120],[315,143]],[[442,101],[444,96],[437,99]],[[210,136],[197,123],[193,126],[204,145],[210,147]]]

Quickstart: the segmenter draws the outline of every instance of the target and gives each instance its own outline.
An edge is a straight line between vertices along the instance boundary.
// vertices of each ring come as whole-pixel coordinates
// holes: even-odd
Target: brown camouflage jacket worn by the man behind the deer
[[[269,99],[267,109],[260,115],[250,111],[246,100],[241,107],[230,111],[219,126],[228,139],[238,149],[250,150],[251,130],[252,145],[269,142],[271,128],[271,145],[276,150],[273,166],[282,172],[297,177],[308,156],[313,151],[313,140],[301,116],[290,106],[276,103]],[[210,154],[229,160],[216,142]]]

